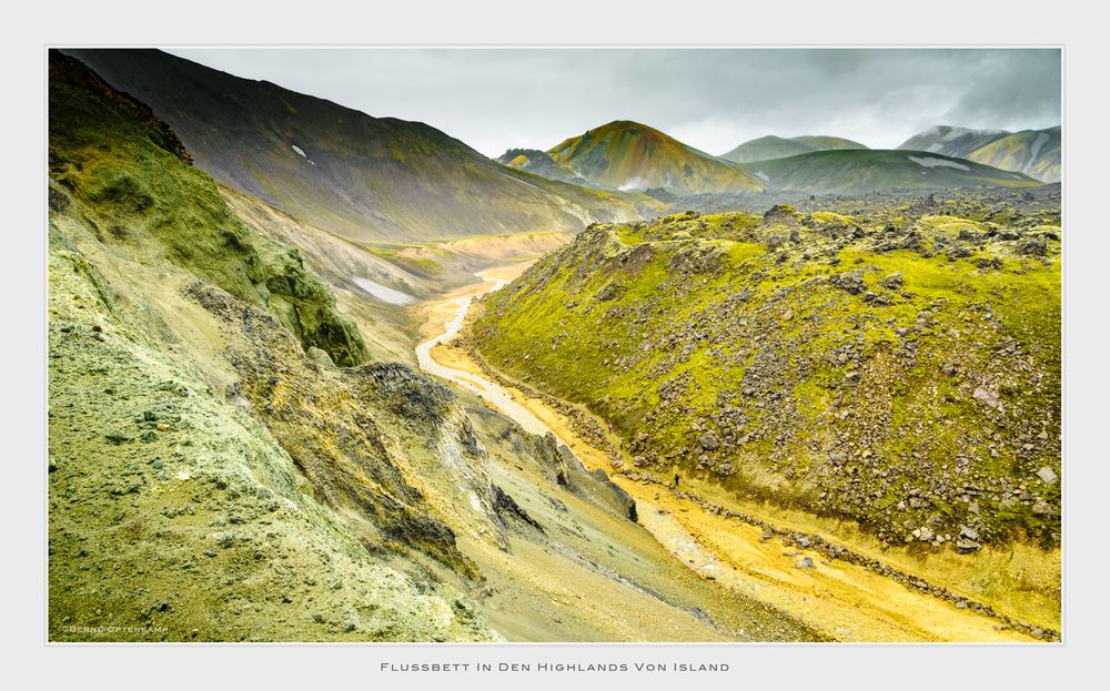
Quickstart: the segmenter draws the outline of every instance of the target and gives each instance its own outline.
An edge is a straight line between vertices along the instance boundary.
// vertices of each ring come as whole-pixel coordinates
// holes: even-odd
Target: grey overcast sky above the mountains
[[[703,151],[777,134],[894,148],[934,124],[1060,123],[1056,49],[171,49],[490,156],[635,120]]]

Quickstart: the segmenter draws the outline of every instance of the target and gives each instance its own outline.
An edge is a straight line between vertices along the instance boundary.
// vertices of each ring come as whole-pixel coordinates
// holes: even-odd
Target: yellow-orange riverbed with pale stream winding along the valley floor
[[[491,270],[484,283],[422,306],[421,366],[481,396],[534,434],[551,431],[589,469],[612,470],[604,451],[586,444],[544,402],[490,380],[463,348],[450,347],[472,301],[519,275],[526,265]],[[1032,641],[998,622],[910,590],[862,567],[829,561],[813,550],[765,540],[749,525],[646,482],[612,478],[635,499],[639,522],[675,559],[702,578],[797,617],[842,641]],[[689,489],[689,488],[684,488]],[[807,560],[808,559],[808,560]],[[799,565],[804,565],[799,567]]]

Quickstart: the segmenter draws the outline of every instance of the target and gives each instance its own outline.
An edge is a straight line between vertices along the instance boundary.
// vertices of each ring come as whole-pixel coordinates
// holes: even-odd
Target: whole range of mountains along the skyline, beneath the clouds
[[[69,52],[150,105],[218,182],[359,243],[575,233],[589,223],[653,217],[694,194],[1059,179],[1059,128],[1054,135],[934,128],[901,146],[932,156],[894,155],[835,136],[765,136],[716,156],[619,120],[546,150],[514,149],[490,160],[421,122],[373,118],[162,51]]]

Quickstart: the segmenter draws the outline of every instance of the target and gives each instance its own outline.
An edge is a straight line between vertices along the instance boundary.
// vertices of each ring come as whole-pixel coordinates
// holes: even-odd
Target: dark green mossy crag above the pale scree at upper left
[[[272,312],[305,348],[339,364],[366,359],[359,329],[301,255],[240,221],[150,109],[63,55],[50,77],[50,175],[82,203],[101,240]]]

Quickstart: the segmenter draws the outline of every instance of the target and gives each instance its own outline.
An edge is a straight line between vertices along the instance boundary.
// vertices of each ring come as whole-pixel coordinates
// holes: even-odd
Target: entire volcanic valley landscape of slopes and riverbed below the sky
[[[49,69],[51,641],[1060,640],[1059,129],[494,160]]]

